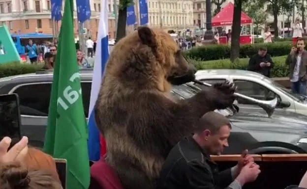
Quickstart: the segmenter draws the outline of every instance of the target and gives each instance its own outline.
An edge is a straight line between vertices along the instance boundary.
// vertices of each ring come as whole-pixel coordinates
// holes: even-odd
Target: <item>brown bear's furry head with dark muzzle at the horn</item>
[[[189,64],[170,34],[157,28],[139,27],[125,36],[110,54],[106,73],[120,83],[141,88],[170,90],[195,79],[196,69]],[[106,76],[105,76],[106,78]],[[127,86],[127,85],[126,85]]]

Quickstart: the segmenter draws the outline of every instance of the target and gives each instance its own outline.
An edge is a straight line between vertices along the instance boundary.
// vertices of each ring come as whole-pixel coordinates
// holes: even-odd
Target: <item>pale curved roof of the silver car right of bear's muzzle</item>
[[[252,77],[263,80],[264,76],[247,70],[235,70],[235,69],[210,69],[210,70],[198,70],[195,74],[196,78],[201,76],[214,77],[214,76],[243,76]]]

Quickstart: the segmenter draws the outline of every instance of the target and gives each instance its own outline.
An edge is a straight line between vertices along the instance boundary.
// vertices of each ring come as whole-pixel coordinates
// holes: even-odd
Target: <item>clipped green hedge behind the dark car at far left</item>
[[[19,62],[10,62],[0,64],[0,78],[35,73],[38,70],[41,70],[43,64],[23,64]]]

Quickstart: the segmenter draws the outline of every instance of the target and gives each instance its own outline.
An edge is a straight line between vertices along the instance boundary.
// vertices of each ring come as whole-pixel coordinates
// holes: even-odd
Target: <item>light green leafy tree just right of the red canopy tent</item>
[[[264,9],[264,4],[260,4],[259,1],[251,0],[244,2],[242,5],[244,12],[253,20],[253,25],[256,33],[261,32],[261,26],[265,25],[268,13]]]

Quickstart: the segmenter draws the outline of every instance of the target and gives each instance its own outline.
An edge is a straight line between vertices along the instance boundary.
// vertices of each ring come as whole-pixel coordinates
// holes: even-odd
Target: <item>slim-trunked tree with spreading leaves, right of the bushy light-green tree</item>
[[[268,12],[273,14],[274,22],[274,36],[278,37],[278,15],[284,10],[285,12],[292,11],[298,0],[259,0],[260,3],[269,3]]]

